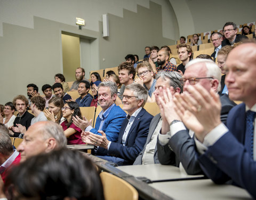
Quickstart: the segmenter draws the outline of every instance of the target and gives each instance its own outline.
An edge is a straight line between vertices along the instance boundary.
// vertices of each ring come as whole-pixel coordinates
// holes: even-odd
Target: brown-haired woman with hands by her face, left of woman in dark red
[[[62,117],[62,111],[64,103],[62,98],[53,97],[49,101],[49,108],[44,110],[44,115],[49,121],[56,122],[61,124],[65,121],[65,118]]]

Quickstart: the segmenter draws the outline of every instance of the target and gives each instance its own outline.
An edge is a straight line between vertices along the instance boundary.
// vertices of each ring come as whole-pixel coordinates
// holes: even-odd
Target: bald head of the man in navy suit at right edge
[[[226,60],[229,97],[245,102],[250,108],[256,103],[256,44],[245,43],[233,49]]]

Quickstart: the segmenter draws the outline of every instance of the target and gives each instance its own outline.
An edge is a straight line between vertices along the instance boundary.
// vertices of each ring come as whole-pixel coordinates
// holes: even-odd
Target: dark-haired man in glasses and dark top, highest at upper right
[[[223,34],[226,37],[222,42],[222,46],[231,45],[233,46],[234,43],[240,42],[243,39],[248,39],[246,36],[237,34],[237,26],[234,22],[227,22],[223,26]]]

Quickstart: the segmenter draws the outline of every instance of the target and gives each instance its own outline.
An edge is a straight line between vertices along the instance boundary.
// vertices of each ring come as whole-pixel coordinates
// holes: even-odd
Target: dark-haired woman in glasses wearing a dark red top
[[[82,130],[73,124],[72,117],[78,116],[82,118],[81,111],[78,104],[74,101],[66,102],[62,108],[62,116],[65,117],[65,121],[60,125],[63,128],[64,134],[67,137],[68,145],[81,145],[83,144],[81,139]]]

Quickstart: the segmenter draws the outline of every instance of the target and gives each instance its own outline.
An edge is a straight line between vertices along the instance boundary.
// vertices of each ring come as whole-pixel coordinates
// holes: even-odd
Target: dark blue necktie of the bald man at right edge
[[[253,158],[253,134],[254,134],[254,118],[255,112],[248,110],[246,112],[246,130],[244,145],[249,152],[251,158]]]

